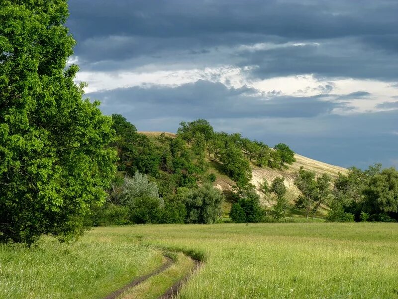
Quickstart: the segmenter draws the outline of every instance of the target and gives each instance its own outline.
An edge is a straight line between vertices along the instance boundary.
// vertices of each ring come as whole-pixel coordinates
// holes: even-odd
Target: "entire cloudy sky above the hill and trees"
[[[398,166],[397,0],[70,0],[70,62],[140,131],[207,119],[328,163]]]

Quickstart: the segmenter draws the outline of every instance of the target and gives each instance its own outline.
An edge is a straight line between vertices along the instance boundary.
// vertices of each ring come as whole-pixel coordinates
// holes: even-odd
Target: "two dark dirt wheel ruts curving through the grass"
[[[149,279],[153,276],[156,276],[156,275],[162,273],[163,271],[169,269],[174,264],[174,261],[167,256],[164,256],[164,257],[166,259],[166,262],[162,266],[160,266],[156,271],[133,280],[127,286],[124,286],[123,288],[113,292],[112,294],[106,296],[104,299],[115,299],[118,296],[120,296],[121,294],[123,294],[125,291],[127,291],[128,289],[133,288],[133,287],[141,284],[142,282],[146,281],[147,279]],[[177,296],[178,291],[182,287],[182,285],[189,280],[190,276],[196,270],[198,270],[201,265],[201,262],[199,260],[196,260],[196,259],[192,259],[192,260],[195,262],[195,267],[191,270],[191,272],[186,274],[184,276],[184,278],[182,278],[177,283],[175,283],[173,286],[171,286],[169,289],[167,289],[166,292],[163,293],[163,295],[161,295],[158,299],[172,299],[172,298],[175,298],[175,296]]]

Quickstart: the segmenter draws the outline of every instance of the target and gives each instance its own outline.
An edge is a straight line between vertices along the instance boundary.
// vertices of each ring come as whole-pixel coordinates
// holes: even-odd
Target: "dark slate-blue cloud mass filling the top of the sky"
[[[148,63],[259,65],[261,78],[319,76],[397,79],[395,0],[70,0],[68,26],[83,69]],[[320,46],[225,53],[222,47],[287,41]],[[210,51],[214,55],[209,55]],[[216,51],[219,51],[218,53]],[[191,56],[191,57],[190,57]],[[123,63],[121,61],[126,61]],[[106,61],[104,63],[95,63]]]

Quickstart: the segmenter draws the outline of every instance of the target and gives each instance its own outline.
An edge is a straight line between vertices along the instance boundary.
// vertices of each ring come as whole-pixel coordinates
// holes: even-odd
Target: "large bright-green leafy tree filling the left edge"
[[[66,68],[66,0],[0,1],[0,241],[71,239],[114,173],[111,119]]]

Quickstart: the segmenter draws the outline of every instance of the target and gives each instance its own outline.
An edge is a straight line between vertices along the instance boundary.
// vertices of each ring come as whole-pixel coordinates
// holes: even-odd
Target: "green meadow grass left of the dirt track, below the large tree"
[[[0,298],[103,298],[162,263],[159,250],[137,238],[114,242],[88,233],[73,244],[45,237],[32,248],[0,245]]]

